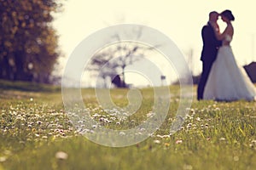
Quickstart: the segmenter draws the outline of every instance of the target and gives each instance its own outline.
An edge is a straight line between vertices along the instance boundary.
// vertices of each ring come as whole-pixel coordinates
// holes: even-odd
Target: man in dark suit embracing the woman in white
[[[217,57],[218,48],[221,46],[221,41],[218,41],[215,36],[215,31],[218,30],[218,13],[212,11],[209,14],[209,21],[201,30],[201,37],[203,40],[203,48],[201,52],[202,73],[201,80],[197,88],[197,99],[203,99],[204,89],[207,83],[207,78],[212,68],[212,63]]]

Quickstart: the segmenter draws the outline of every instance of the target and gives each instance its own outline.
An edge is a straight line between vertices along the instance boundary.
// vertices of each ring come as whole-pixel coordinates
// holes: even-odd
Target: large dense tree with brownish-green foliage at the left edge
[[[59,56],[55,0],[0,0],[0,78],[50,82]]]

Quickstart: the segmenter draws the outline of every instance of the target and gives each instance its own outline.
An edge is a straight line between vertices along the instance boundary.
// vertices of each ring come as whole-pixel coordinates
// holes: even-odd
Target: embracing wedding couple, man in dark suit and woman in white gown
[[[226,23],[221,33],[218,17]],[[214,99],[218,101],[234,101],[256,99],[256,88],[247,77],[246,71],[236,64],[230,47],[234,34],[232,21],[235,20],[230,10],[218,14],[212,11],[209,21],[203,26],[201,36],[203,48],[201,52],[202,74],[198,84],[197,99]]]

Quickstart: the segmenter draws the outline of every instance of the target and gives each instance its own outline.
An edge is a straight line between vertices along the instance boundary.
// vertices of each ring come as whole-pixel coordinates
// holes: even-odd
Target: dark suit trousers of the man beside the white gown
[[[197,88],[197,99],[198,100],[203,99],[204,90],[205,90],[205,86],[207,84],[207,79],[209,77],[209,74],[210,74],[210,71],[212,68],[212,63],[213,62],[203,61],[201,79],[200,79],[200,82],[199,82],[198,88]]]

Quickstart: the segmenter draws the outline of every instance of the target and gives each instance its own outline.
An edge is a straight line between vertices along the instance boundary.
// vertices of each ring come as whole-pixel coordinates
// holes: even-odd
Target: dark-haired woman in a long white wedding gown
[[[227,26],[222,34],[216,32],[218,40],[222,40],[223,44],[218,48],[217,59],[212,65],[203,98],[218,101],[255,100],[256,88],[246,71],[236,64],[230,47],[234,34],[231,21],[235,20],[235,17],[230,10],[224,10],[220,15]]]

